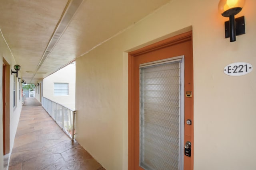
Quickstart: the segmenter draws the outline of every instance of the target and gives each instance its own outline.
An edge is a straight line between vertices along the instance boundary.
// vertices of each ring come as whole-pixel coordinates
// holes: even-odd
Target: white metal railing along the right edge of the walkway
[[[42,107],[62,130],[74,140],[75,135],[75,114],[76,111],[62,106],[52,100],[42,97]]]

